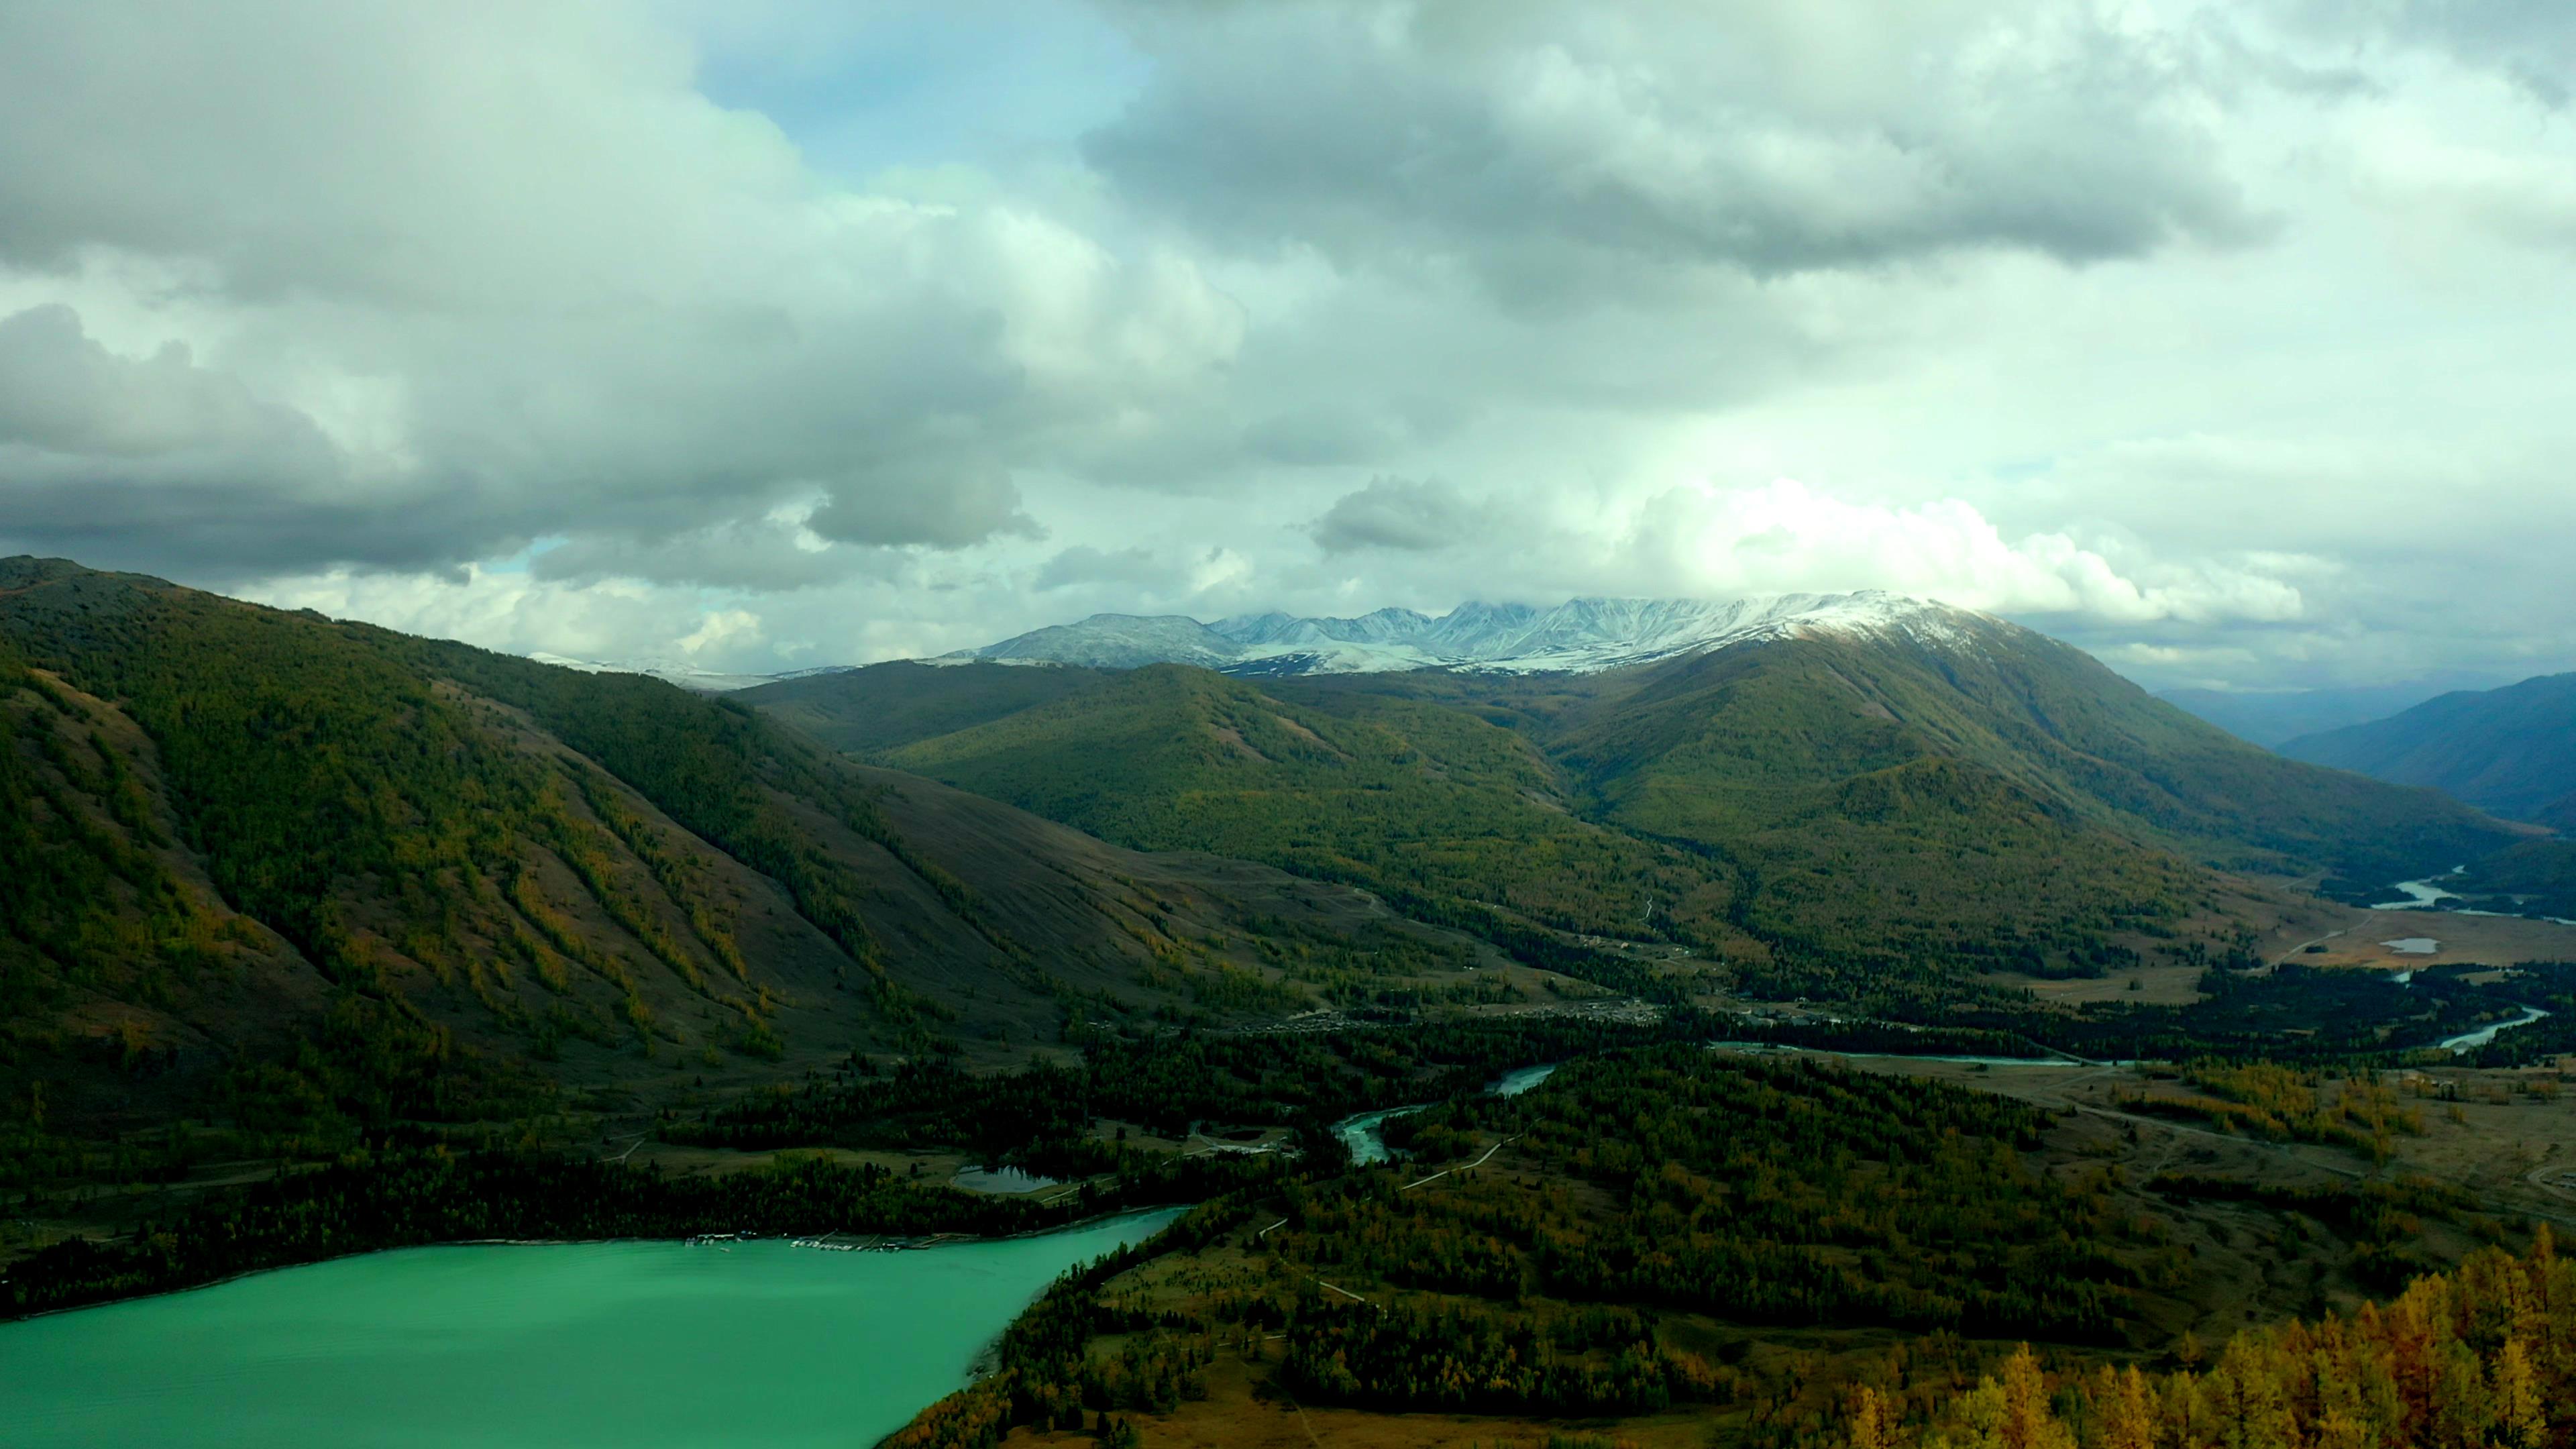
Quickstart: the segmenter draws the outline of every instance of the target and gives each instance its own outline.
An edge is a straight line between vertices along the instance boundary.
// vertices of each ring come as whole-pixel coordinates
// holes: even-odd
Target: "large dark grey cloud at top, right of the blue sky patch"
[[[1955,250],[2071,263],[2262,219],[2190,46],[2092,5],[1133,8],[1154,80],[1084,155],[1244,248],[1633,291]]]

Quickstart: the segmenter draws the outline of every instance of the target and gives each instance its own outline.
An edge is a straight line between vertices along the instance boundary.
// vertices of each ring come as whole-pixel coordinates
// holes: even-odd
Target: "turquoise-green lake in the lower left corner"
[[[0,1444],[863,1446],[1177,1214],[912,1253],[404,1248],[0,1323]]]

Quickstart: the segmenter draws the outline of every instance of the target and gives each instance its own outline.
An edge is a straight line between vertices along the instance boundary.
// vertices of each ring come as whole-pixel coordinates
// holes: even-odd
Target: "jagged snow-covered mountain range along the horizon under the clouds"
[[[1770,598],[1571,598],[1553,608],[1461,603],[1430,616],[1378,608],[1358,619],[1244,614],[1200,624],[1177,614],[1092,614],[958,650],[933,663],[1043,663],[1139,668],[1200,665],[1236,676],[1476,670],[1592,673],[1808,632],[1904,634],[1924,645],[1965,642],[1978,619],[1947,603],[1896,593],[1783,593]]]

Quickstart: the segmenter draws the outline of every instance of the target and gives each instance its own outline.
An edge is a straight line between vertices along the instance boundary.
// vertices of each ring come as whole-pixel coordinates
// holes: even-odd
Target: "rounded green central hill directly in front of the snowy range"
[[[1144,851],[1216,851],[1510,938],[1680,938],[1728,954],[1728,877],[1577,820],[1510,730],[1422,701],[1324,714],[1154,665],[886,763]]]

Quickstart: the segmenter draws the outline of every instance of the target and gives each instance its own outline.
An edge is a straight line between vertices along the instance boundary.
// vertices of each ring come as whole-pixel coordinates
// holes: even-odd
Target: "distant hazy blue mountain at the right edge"
[[[2391,719],[2303,735],[2285,755],[2396,784],[2429,784],[2455,799],[2576,825],[2576,673],[2458,691]]]

